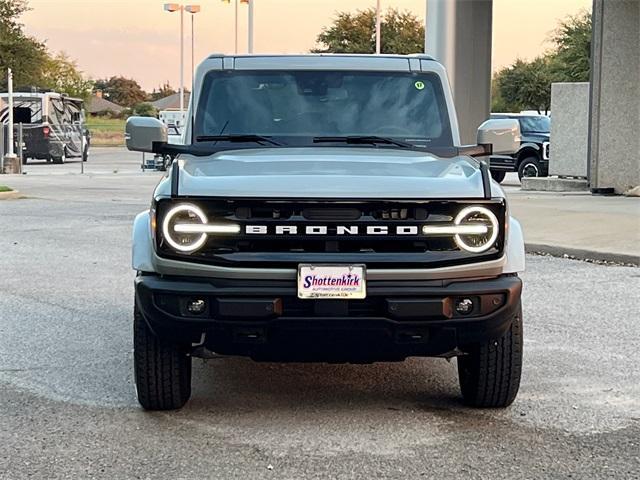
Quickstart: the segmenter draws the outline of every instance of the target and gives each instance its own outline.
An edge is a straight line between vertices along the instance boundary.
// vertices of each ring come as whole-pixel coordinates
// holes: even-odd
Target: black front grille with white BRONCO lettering
[[[224,266],[296,267],[300,263],[365,263],[369,268],[438,267],[497,258],[503,247],[505,206],[501,200],[425,202],[321,202],[190,199],[209,222],[239,224],[241,233],[210,235],[203,248],[178,254],[156,235],[165,257]],[[482,204],[501,219],[495,245],[482,254],[460,250],[453,237],[408,235],[409,228],[451,223],[470,204]],[[158,225],[174,201],[157,204]],[[250,226],[260,234],[249,234]],[[277,228],[285,232],[276,233]],[[308,231],[311,229],[311,232]],[[386,229],[386,234],[369,234]],[[405,229],[405,230],[403,230]],[[264,232],[264,233],[263,233]],[[295,233],[292,233],[295,232]],[[318,233],[321,232],[321,233]],[[357,232],[357,233],[354,233]]]

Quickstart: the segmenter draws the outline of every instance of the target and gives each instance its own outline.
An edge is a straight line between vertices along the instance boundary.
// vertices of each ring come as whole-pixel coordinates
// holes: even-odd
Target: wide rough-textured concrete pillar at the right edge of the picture
[[[592,56],[589,183],[624,193],[640,185],[640,0],[594,0]]]

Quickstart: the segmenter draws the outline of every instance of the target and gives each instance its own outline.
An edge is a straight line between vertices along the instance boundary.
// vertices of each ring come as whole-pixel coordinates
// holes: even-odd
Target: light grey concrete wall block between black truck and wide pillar
[[[587,177],[589,83],[551,85],[549,174]]]

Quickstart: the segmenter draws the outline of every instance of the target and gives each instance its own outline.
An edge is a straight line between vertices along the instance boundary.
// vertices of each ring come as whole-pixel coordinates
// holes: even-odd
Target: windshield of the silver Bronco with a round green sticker
[[[442,85],[433,73],[210,72],[194,138],[217,135],[260,135],[284,144],[378,136],[452,146]]]

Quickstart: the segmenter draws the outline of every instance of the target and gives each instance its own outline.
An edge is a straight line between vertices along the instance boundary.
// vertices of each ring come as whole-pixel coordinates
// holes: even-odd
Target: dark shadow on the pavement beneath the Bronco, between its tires
[[[187,408],[238,410],[459,408],[455,362],[414,358],[352,364],[260,363],[244,358],[194,361]]]

